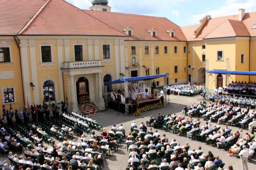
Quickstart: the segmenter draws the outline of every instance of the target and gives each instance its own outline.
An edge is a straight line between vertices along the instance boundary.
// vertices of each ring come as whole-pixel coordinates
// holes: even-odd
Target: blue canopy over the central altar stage
[[[111,82],[105,82],[104,86],[108,86],[108,85],[111,85],[111,84],[122,83],[122,82],[125,82],[125,81],[131,82],[131,81],[138,81],[138,80],[152,80],[152,79],[157,79],[157,78],[160,78],[160,77],[167,77],[167,74],[122,78],[122,79],[118,79],[118,80],[111,81]]]

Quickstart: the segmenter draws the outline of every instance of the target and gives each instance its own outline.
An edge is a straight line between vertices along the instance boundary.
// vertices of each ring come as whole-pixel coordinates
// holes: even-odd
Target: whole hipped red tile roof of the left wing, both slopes
[[[26,2],[25,9],[20,9],[17,13],[15,7],[19,8],[22,2]],[[65,2],[64,0],[4,0],[6,2],[3,7],[8,6],[7,2],[15,4],[13,8],[8,8],[6,13],[11,16],[16,16],[16,20],[11,20],[11,17],[3,17],[7,23],[4,27],[2,24],[2,34],[6,35],[7,28],[10,27],[9,34],[19,35],[103,35],[103,36],[124,36],[124,33],[114,29],[107,24],[104,24],[100,20],[88,15],[81,9]],[[15,2],[15,3],[14,3]],[[37,5],[34,10],[34,3],[44,2]],[[44,5],[45,4],[45,5]],[[30,11],[30,12],[27,12]],[[31,12],[33,11],[33,13]],[[0,11],[2,16],[2,12]],[[13,14],[15,13],[15,14]],[[30,13],[30,17],[22,18],[23,14],[27,16]],[[19,16],[19,17],[18,17]],[[19,24],[19,20],[23,20],[22,24]],[[15,27],[18,23],[20,26]],[[11,30],[13,30],[11,32]]]

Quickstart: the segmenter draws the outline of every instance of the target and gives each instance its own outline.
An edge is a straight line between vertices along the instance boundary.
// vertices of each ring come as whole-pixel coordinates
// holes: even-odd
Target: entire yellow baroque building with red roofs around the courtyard
[[[112,13],[106,0],[97,3],[81,10],[64,0],[1,1],[1,104],[19,109],[68,99],[70,111],[90,99],[104,109],[103,83],[123,75],[168,73],[168,84],[205,83],[204,61],[209,69],[225,70],[227,58],[229,70],[254,71],[256,13],[241,9],[179,27],[163,17]],[[228,83],[224,75],[211,75],[210,88],[221,83]],[[123,85],[108,86],[119,89]]]

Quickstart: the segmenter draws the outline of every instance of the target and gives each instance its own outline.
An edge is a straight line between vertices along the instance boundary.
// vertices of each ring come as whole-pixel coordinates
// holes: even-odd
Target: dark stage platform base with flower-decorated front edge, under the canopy
[[[111,98],[108,98],[108,108],[111,108],[115,111],[118,111],[119,109],[119,103],[117,101],[114,101]],[[161,103],[163,104],[163,97],[159,98],[157,97],[156,99],[150,99],[149,96],[146,96],[146,99],[139,99],[137,100],[137,104],[136,101],[132,100],[132,98],[129,98],[129,114],[133,114],[134,112],[136,112],[137,108],[139,109],[143,109],[142,112],[146,112],[146,108],[153,106],[154,104],[159,104],[161,101]],[[152,107],[150,107],[152,108]],[[150,109],[153,110],[153,109]],[[125,103],[120,102],[120,109],[119,112],[121,113],[125,113]]]

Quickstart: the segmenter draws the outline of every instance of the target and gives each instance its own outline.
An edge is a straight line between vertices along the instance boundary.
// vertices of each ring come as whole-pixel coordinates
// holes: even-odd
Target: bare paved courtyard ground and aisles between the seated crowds
[[[168,97],[167,97],[168,99]],[[101,124],[103,127],[106,127],[107,131],[110,130],[110,128],[113,126],[113,124],[116,124],[117,127],[120,126],[120,124],[122,123],[124,127],[126,127],[126,134],[128,134],[128,132],[130,132],[130,127],[131,127],[131,123],[132,121],[135,121],[135,123],[137,125],[140,124],[140,122],[146,122],[148,120],[148,118],[150,117],[150,115],[158,115],[158,113],[161,113],[162,115],[166,115],[166,114],[173,114],[176,113],[176,115],[182,115],[182,110],[184,108],[184,105],[191,105],[193,103],[197,103],[199,102],[198,99],[201,99],[200,96],[195,96],[195,97],[186,97],[186,96],[174,96],[174,95],[170,95],[170,105],[158,109],[158,110],[152,110],[152,111],[148,111],[148,112],[144,112],[142,113],[142,116],[122,116],[122,114],[117,115],[117,112],[115,112],[114,110],[108,109],[100,114],[97,115],[93,115],[92,119],[96,120],[99,124]],[[205,121],[203,121],[202,119],[200,119],[201,124],[204,124]],[[212,123],[214,124],[214,123]],[[221,125],[221,127],[223,127],[223,125]],[[236,130],[238,130],[237,127],[235,126],[230,126],[230,129],[232,129],[232,132],[235,132]],[[155,131],[155,129],[153,128],[153,130]],[[245,132],[248,132],[248,129],[244,130]],[[96,134],[100,134],[100,132],[95,131]],[[202,147],[202,150],[204,151],[205,154],[208,153],[208,151],[211,151],[213,153],[214,156],[219,155],[220,159],[222,159],[223,163],[225,163],[224,168],[228,168],[228,165],[232,165],[234,170],[241,170],[241,162],[240,159],[237,159],[236,157],[230,157],[228,156],[228,152],[225,152],[225,150],[219,150],[216,147],[213,146],[208,146],[204,143],[198,142],[198,141],[189,141],[187,140],[187,137],[185,136],[178,136],[176,134],[165,132],[164,130],[161,131],[161,128],[158,129],[158,132],[162,134],[166,134],[166,136],[168,137],[168,139],[173,139],[175,138],[176,141],[178,141],[178,143],[180,143],[182,146],[185,145],[186,141],[189,142],[190,145],[190,150],[192,148],[198,148],[198,146]],[[87,139],[89,138],[89,135],[87,135]],[[78,138],[80,139],[80,138]],[[126,137],[125,137],[126,139]],[[49,147],[51,148],[51,147]],[[102,168],[102,170],[124,170],[127,161],[128,161],[128,157],[129,157],[129,153],[126,150],[126,144],[125,144],[125,140],[122,141],[121,145],[119,145],[119,149],[112,154],[111,156],[108,157],[108,159],[105,159],[104,157],[104,168]],[[5,160],[6,157],[2,158],[1,157],[1,161]],[[7,161],[9,162],[9,161]],[[248,162],[248,166],[249,166],[249,170],[256,170],[256,157],[254,157],[254,159],[252,160],[251,163]]]

